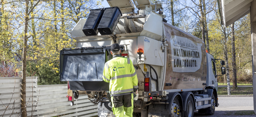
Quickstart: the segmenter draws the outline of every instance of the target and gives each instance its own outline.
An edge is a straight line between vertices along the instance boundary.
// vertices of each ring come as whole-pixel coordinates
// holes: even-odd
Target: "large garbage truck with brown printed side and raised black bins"
[[[107,2],[110,8],[92,9],[75,25],[76,47],[60,51],[60,80],[68,81],[71,106],[87,94],[99,117],[114,117],[102,73],[113,58],[110,46],[118,43],[120,56],[132,61],[138,77],[133,116],[193,117],[195,110],[213,115],[219,105],[217,71],[225,74],[224,61],[207,53],[203,40],[168,24],[161,3]]]

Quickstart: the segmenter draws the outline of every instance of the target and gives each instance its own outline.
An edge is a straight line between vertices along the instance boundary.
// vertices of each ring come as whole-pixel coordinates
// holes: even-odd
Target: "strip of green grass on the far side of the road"
[[[253,87],[238,87],[237,89],[231,89],[231,95],[253,95]],[[218,87],[218,95],[227,95],[226,87]]]

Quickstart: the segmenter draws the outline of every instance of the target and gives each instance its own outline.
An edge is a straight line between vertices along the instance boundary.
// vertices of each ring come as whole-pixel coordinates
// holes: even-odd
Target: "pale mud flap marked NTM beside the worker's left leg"
[[[98,117],[115,117],[110,101],[100,102],[98,104]]]

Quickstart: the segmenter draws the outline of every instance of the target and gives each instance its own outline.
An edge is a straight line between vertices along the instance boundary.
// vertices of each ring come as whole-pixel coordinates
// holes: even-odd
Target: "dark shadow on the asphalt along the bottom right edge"
[[[206,115],[195,111],[194,117],[255,117],[253,110],[236,110],[236,111],[215,111],[214,115]]]

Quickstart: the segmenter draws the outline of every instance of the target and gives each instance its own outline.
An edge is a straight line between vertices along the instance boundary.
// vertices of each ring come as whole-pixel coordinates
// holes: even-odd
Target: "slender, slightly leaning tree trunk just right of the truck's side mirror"
[[[226,28],[224,27],[224,55],[225,55],[225,66],[226,66],[226,76],[227,76],[227,95],[230,95],[230,77],[229,77],[229,67],[228,67],[228,57],[227,57],[227,37]]]

